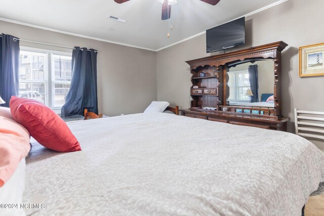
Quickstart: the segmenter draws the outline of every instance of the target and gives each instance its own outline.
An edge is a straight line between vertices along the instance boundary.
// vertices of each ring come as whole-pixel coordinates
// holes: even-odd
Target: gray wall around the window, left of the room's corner
[[[0,33],[47,44],[98,50],[98,106],[103,114],[143,112],[151,101],[156,100],[156,52],[4,21],[0,21]],[[71,49],[24,41],[20,41],[20,46],[72,52]]]

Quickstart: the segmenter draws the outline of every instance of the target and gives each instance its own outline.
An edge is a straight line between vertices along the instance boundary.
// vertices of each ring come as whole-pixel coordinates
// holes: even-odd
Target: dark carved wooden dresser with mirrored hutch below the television
[[[181,110],[181,114],[287,131],[289,118],[281,115],[281,51],[287,46],[285,42],[278,41],[187,61],[192,74],[192,100],[190,108]],[[248,99],[251,97],[247,90],[250,91],[250,87],[252,89],[249,84],[252,73],[245,67],[250,65],[257,65],[255,67],[259,68],[255,75],[258,81],[253,86],[252,96],[257,103],[250,103],[251,98]],[[263,96],[269,95],[272,95],[273,101],[265,102]]]

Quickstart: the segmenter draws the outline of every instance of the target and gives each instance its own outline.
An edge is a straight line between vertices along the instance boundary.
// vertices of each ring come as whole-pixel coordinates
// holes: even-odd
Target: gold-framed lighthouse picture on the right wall
[[[299,48],[299,76],[324,76],[324,43]]]

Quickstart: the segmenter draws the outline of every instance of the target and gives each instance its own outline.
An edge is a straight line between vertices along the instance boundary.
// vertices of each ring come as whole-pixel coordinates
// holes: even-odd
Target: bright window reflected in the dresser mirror
[[[234,71],[228,73],[228,76],[230,80],[228,82],[230,89],[228,100],[248,102],[249,96],[247,96],[246,93],[247,90],[250,89],[249,71]]]

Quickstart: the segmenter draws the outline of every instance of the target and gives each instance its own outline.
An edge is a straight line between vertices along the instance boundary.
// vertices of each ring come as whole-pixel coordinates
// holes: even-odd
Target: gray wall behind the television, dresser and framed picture
[[[239,49],[285,41],[282,52],[282,113],[290,117],[288,131],[294,133],[294,108],[324,111],[324,76],[298,76],[301,46],[324,42],[324,1],[289,0],[246,18],[246,45]],[[200,35],[157,52],[157,99],[189,106],[190,71],[187,60],[206,54],[206,35]],[[216,55],[214,53],[212,55]],[[316,145],[324,149],[323,143]]]

